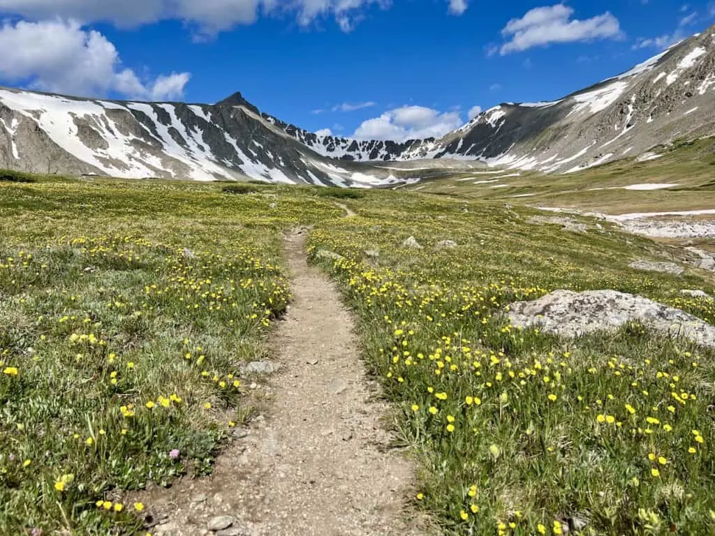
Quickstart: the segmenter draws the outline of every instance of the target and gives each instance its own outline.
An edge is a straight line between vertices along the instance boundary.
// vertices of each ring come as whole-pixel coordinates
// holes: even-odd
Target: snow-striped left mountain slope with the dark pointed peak
[[[321,157],[263,120],[240,94],[208,106],[0,89],[0,167],[337,186],[405,182]]]

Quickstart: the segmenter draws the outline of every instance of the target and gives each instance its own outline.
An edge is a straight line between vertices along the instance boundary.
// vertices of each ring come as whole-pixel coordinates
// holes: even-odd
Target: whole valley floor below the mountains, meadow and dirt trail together
[[[398,189],[6,172],[0,532],[710,530],[715,242],[616,219],[712,229],[710,147]],[[508,318],[541,299],[597,331]]]

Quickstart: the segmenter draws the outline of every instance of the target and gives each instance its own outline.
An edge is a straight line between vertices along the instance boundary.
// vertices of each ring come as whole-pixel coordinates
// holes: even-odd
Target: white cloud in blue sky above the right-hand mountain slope
[[[501,46],[502,55],[528,50],[551,43],[591,41],[621,36],[621,27],[610,11],[591,19],[571,19],[571,6],[556,4],[531,9],[521,19],[511,19],[501,31],[508,41]]]

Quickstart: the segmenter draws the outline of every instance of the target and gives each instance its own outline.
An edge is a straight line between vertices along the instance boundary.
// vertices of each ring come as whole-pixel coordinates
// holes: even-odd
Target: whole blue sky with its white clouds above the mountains
[[[305,129],[399,139],[625,71],[713,24],[715,1],[0,0],[0,16],[1,84],[209,103],[241,91]]]

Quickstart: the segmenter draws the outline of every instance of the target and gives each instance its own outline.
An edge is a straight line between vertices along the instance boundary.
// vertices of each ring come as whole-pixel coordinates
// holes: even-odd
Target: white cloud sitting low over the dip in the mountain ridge
[[[390,139],[395,142],[440,137],[458,128],[463,122],[456,111],[440,113],[425,106],[402,106],[363,121],[352,137]]]

